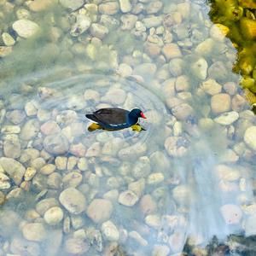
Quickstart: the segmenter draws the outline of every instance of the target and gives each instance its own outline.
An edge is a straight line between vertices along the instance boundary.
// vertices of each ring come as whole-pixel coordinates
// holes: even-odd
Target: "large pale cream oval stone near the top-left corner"
[[[30,38],[39,31],[39,26],[31,20],[16,20],[13,29],[21,38]]]

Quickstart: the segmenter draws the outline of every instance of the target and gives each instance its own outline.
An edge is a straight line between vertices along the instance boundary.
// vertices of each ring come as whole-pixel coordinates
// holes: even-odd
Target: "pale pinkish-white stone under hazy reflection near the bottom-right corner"
[[[236,205],[224,205],[220,208],[220,212],[226,224],[238,224],[241,220],[242,212]]]

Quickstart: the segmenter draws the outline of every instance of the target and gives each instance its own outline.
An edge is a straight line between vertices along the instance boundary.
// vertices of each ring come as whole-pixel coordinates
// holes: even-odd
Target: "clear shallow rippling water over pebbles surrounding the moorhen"
[[[95,1],[96,5],[101,2],[107,3]],[[153,3],[162,8],[147,14]],[[11,10],[4,4],[1,29],[11,32],[17,9],[28,8],[22,1],[9,3]],[[180,255],[186,243],[203,252],[213,236],[225,242],[234,234],[255,235],[255,151],[243,138],[255,118],[245,102],[240,108],[232,107],[239,113],[236,121],[219,125],[214,121],[219,114],[211,111],[212,96],[201,90],[203,82],[215,79],[223,93],[224,84],[236,84],[232,99],[242,95],[240,77],[232,73],[235,49],[229,39],[212,36],[209,6],[204,1],[131,4],[144,9],[134,19],[160,19],[157,34],[154,28],[124,29],[125,17],[118,11],[108,16],[114,19],[105,24],[109,32],[102,42],[91,39],[89,31],[73,37],[75,15],[84,10],[70,13],[56,4],[41,12],[30,11],[29,20],[38,23],[40,32],[20,39],[13,52],[0,59],[2,161],[11,156],[36,170],[31,179],[22,175],[15,182],[12,167],[3,166],[9,187],[1,189],[5,196],[0,212],[1,255]],[[98,22],[102,18],[99,12],[89,15]],[[52,29],[60,37],[51,35]],[[173,56],[172,49],[171,60],[162,52],[148,54],[146,33],[160,48],[168,42],[178,45],[180,53]],[[209,38],[212,49],[197,48]],[[201,67],[193,68],[200,58],[207,61],[204,78],[200,78]],[[217,61],[225,70],[210,72]],[[126,64],[121,66],[125,72],[121,63]],[[181,110],[173,108],[180,102],[185,104]],[[31,105],[34,110],[27,115]],[[84,113],[109,106],[141,108],[148,119],[140,123],[147,131],[87,131],[90,120]],[[17,110],[22,118],[15,124],[10,116]],[[57,128],[45,125],[49,121],[55,121]],[[32,122],[36,125],[30,129]],[[18,131],[8,132],[8,125],[21,131],[15,127]],[[13,140],[20,145],[16,154],[16,149],[8,153],[6,149]],[[61,146],[56,149],[58,143]],[[28,148],[35,149],[32,156]],[[56,164],[59,156],[67,160],[62,169]],[[56,164],[55,171],[43,172],[47,164]],[[78,214],[61,203],[61,192],[69,187],[85,196],[85,208]],[[135,191],[132,206],[120,200],[127,189]],[[40,201],[47,198],[55,198],[55,203],[38,210]],[[102,198],[111,201],[113,211],[95,223],[89,206]],[[45,220],[44,212],[50,207],[61,207],[64,213],[57,224]],[[96,212],[104,212],[98,207]],[[102,223],[108,220],[116,227],[115,235],[111,229],[103,231]],[[33,230],[26,227],[32,223],[42,224],[43,230],[31,234]]]

